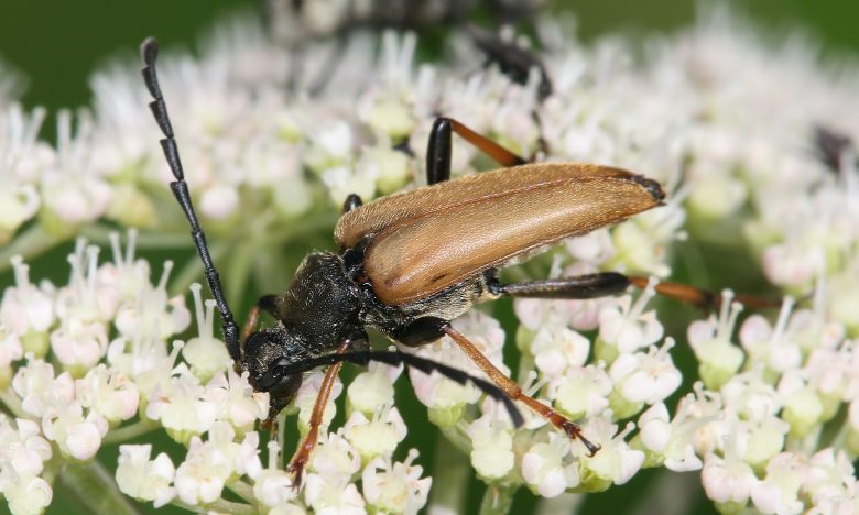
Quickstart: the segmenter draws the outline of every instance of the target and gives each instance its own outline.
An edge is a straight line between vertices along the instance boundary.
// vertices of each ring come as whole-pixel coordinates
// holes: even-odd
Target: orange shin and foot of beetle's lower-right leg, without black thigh
[[[507,394],[508,397],[514,401],[519,401],[525,406],[530,407],[532,410],[534,410],[534,413],[552,423],[552,425],[556,428],[564,431],[570,439],[575,440],[578,438],[581,440],[581,443],[588,450],[589,456],[592,457],[597,453],[597,451],[599,451],[599,445],[594,443],[581,435],[581,427],[574,424],[564,415],[555,412],[551,407],[522,392],[522,387],[520,387],[513,380],[504,375],[503,372],[498,370],[498,368],[493,365],[492,362],[489,361],[489,359],[485,357],[480,350],[478,350],[478,348],[468,340],[468,338],[454,329],[449,322],[445,322],[442,327],[439,327],[439,330],[453,338],[459,348],[463,349],[463,352],[465,352],[466,355],[468,355],[468,358],[470,358],[471,361],[474,361],[475,364],[477,364],[480,370],[482,370],[483,373],[486,373],[489,379],[491,379]]]

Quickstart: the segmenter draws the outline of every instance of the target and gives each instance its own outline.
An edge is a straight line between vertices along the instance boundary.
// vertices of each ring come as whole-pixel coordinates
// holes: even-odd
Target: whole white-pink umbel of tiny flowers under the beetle
[[[59,484],[97,484],[94,498],[117,513],[130,507],[123,494],[211,512],[449,511],[467,487],[456,479],[463,463],[487,485],[483,513],[503,513],[522,487],[568,512],[644,469],[698,472],[722,512],[859,509],[857,63],[822,66],[802,37],[769,46],[724,12],[646,41],[643,55],[617,37],[583,46],[557,20],[537,29],[534,52],[553,85],[545,98],[540,74],[519,84],[479,66],[456,30],[445,57],[417,64],[413,34],[356,32],[346,45],[297,47],[236,20],[198,57],[165,56],[160,73],[194,200],[237,299],[254,282],[265,293],[284,287],[293,251],[327,241],[349,193],[370,199],[422,184],[438,112],[523,155],[660,180],[666,206],[513,271],[616,270],[651,276],[645,289],[523,299],[514,320],[487,309],[454,322],[530,395],[576,419],[599,452],[526,412],[514,428],[472,385],[371,365],[348,386],[338,380],[295,489],[285,439],[258,429],[267,394],[232,372],[198,285],[186,304],[199,264],[174,272],[138,255],[189,241],[129,61],[93,77],[93,106],[57,117],[53,145],[37,138],[44,111],[26,112],[0,87],[0,262],[14,277],[0,298],[0,492],[10,511],[43,512]],[[453,163],[457,176],[487,166],[466,144]],[[130,228],[124,245],[116,226]],[[32,277],[28,262],[63,241],[77,242],[68,281]],[[721,281],[719,266],[696,264],[710,253],[740,264]],[[689,319],[654,296],[681,272],[738,293]],[[781,309],[742,310],[739,293],[760,294],[750,289],[762,281]],[[684,347],[689,369],[672,357]],[[414,352],[480,374],[447,339]],[[305,377],[283,432],[307,430],[322,375]],[[436,452],[449,470],[403,445],[410,428],[393,383],[405,375],[447,440]],[[118,459],[100,459],[117,445]]]

